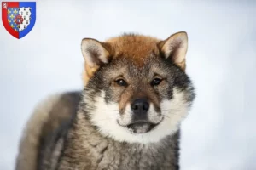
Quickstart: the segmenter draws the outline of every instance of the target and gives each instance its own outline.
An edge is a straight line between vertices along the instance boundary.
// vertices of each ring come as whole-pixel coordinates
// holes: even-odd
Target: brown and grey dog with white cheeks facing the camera
[[[177,170],[195,88],[188,36],[84,38],[84,89],[55,94],[26,124],[16,170]]]

